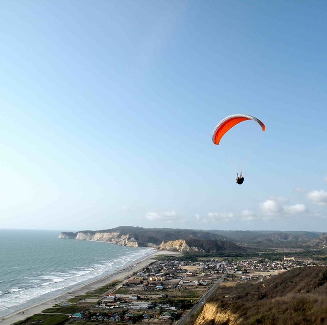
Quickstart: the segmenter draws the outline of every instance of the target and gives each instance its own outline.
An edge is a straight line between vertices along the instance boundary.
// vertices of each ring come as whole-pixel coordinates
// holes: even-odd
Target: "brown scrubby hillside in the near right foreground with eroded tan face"
[[[195,324],[325,324],[326,294],[326,267],[295,268],[261,283],[218,287]]]

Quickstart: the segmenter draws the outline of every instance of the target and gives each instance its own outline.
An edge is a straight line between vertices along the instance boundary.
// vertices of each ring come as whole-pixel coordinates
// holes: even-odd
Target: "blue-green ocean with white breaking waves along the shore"
[[[58,239],[60,232],[0,229],[0,317],[114,273],[154,251]]]

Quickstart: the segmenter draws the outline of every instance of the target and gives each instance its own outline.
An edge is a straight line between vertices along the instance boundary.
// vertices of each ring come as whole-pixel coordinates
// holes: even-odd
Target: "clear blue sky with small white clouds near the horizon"
[[[327,231],[326,14],[3,1],[0,228]]]

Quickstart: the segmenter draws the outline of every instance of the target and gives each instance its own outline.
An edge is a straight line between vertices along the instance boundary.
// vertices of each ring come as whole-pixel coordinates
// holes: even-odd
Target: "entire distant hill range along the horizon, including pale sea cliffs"
[[[96,231],[63,232],[59,238],[104,241],[121,246],[154,247],[181,252],[241,253],[246,251],[244,245],[248,248],[282,245],[327,247],[327,235],[322,235],[317,231],[194,230],[120,226]]]

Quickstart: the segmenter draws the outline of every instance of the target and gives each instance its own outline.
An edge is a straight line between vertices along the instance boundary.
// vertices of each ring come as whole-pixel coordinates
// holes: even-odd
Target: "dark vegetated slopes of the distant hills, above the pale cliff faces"
[[[79,233],[95,235],[96,233],[115,233],[118,236],[129,235],[138,247],[147,247],[149,243],[159,246],[162,242],[185,240],[195,251],[205,253],[235,253],[235,257],[246,257],[245,253],[255,252],[293,254],[296,251],[310,252],[312,249],[327,247],[327,237],[314,231],[241,231],[241,230],[194,230],[172,228],[143,228],[120,226],[104,230],[81,230]],[[68,238],[76,238],[78,233],[62,233]],[[290,251],[286,251],[289,249]],[[311,252],[310,252],[311,253]],[[243,254],[243,255],[242,255]]]

